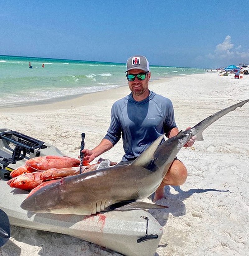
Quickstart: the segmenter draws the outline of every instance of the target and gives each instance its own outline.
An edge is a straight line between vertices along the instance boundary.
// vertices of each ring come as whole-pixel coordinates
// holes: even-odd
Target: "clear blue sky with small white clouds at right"
[[[245,3],[246,1],[244,1]],[[217,68],[249,63],[243,1],[0,3],[0,55]]]

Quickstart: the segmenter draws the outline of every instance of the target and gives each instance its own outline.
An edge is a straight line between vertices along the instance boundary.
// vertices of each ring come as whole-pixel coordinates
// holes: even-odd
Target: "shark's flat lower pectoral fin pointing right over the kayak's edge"
[[[105,211],[115,210],[115,211],[130,211],[130,210],[141,210],[141,209],[152,209],[152,208],[168,208],[165,205],[156,205],[153,203],[147,203],[142,201],[122,201],[120,203],[116,203],[114,205],[110,205]]]

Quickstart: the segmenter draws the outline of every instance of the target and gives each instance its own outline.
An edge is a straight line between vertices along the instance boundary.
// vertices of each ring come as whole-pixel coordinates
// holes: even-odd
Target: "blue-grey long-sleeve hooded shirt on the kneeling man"
[[[138,157],[154,140],[176,127],[170,99],[149,92],[142,101],[132,94],[117,100],[111,108],[110,127],[105,139],[115,145],[121,138],[125,155],[122,161]]]

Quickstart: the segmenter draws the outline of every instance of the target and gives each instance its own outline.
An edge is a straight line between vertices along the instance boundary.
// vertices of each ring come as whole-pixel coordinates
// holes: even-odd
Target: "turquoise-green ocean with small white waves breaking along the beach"
[[[153,65],[150,71],[151,80],[205,72]],[[42,104],[114,89],[127,85],[124,72],[125,63],[0,55],[0,107]]]

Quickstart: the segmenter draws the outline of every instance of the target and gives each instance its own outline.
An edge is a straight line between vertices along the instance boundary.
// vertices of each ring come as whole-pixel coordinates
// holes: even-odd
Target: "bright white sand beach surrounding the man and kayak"
[[[234,79],[218,73],[180,76],[150,83],[170,98],[179,129],[194,126],[220,109],[249,99],[249,75]],[[87,148],[106,134],[113,102],[128,86],[42,106],[0,109],[1,127],[54,144],[78,157],[81,133]],[[170,206],[150,212],[163,226],[156,255],[249,255],[249,103],[216,121],[204,141],[182,148],[178,157],[188,168],[180,187],[166,187]],[[120,161],[122,142],[102,157]],[[1,255],[1,249],[0,249]],[[120,255],[63,234],[12,226],[2,255]],[[142,255],[141,255],[142,256]]]

